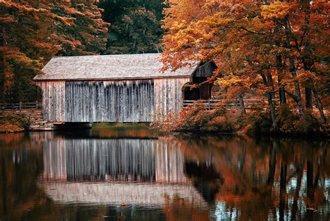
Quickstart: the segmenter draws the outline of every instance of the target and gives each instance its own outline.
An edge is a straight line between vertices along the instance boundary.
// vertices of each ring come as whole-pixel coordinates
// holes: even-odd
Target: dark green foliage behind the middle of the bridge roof
[[[159,52],[163,1],[107,0],[100,8],[104,21],[111,24],[107,54]]]

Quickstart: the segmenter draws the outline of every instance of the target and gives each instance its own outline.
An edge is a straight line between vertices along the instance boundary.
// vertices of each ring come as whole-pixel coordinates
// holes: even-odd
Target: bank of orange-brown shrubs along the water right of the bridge
[[[151,126],[159,130],[172,132],[202,133],[247,133],[249,135],[327,135],[329,131],[312,112],[304,117],[292,112],[288,107],[277,111],[278,130],[274,130],[269,111],[253,109],[244,116],[236,109],[204,110],[198,106],[184,109],[178,117],[172,114],[164,122],[155,122]]]

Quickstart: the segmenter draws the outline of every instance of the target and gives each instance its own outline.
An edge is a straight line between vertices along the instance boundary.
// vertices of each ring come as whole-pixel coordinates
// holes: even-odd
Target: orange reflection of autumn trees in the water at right
[[[303,214],[299,201],[313,210],[323,204],[327,144],[315,142],[311,148],[297,139],[246,137],[178,139],[178,144],[186,160],[212,165],[220,174],[216,199],[226,202],[228,211],[239,208],[242,219],[267,220],[272,210],[273,218],[285,220],[290,213],[294,220]]]

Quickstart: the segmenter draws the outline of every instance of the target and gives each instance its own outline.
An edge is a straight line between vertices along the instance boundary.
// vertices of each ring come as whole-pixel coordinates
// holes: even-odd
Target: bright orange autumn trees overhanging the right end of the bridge
[[[255,91],[267,97],[275,130],[272,98],[280,96],[285,105],[289,96],[304,117],[304,86],[315,91],[326,122],[317,91],[327,79],[329,3],[173,0],[169,5],[162,39],[164,69],[214,60],[219,67],[215,75],[222,73],[216,84],[235,87],[235,96],[242,94],[237,91]]]

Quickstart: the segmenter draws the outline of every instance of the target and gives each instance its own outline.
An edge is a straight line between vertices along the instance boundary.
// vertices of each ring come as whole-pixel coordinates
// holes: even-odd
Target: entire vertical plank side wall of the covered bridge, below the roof
[[[183,107],[189,77],[38,82],[43,118],[57,122],[152,122]]]

